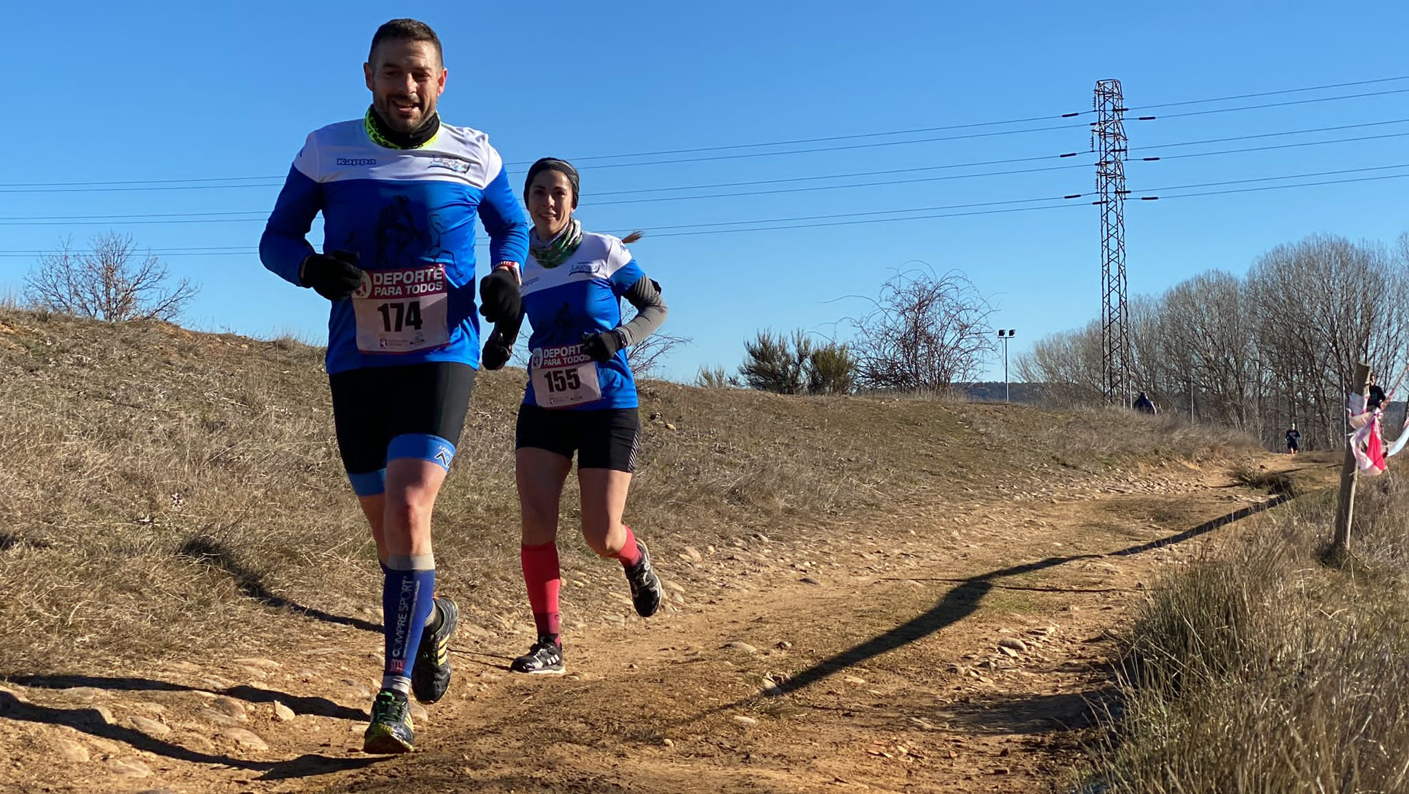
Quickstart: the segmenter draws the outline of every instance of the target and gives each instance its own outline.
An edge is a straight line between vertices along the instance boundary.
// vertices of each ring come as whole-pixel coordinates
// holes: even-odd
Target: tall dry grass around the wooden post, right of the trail
[[[1333,511],[1305,496],[1157,590],[1093,788],[1409,791],[1409,489],[1361,482],[1353,570],[1317,561]]]

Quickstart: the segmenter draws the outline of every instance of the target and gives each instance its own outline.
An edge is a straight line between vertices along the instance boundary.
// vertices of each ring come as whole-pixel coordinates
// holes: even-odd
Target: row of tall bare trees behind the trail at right
[[[1246,276],[1210,271],[1130,306],[1131,388],[1275,443],[1339,447],[1357,361],[1403,399],[1409,353],[1409,233],[1394,245],[1317,234],[1262,254]],[[1100,401],[1100,324],[1048,336],[1017,360],[1058,403]],[[1392,420],[1395,417],[1391,417]],[[1398,433],[1398,425],[1386,434]]]

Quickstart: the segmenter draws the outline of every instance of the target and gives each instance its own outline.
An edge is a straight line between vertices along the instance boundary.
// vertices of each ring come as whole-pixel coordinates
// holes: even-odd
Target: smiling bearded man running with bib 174
[[[386,23],[362,71],[372,106],[307,137],[259,258],[333,303],[338,450],[383,571],[386,659],[364,750],[404,753],[414,749],[407,695],[445,694],[459,613],[434,597],[430,520],[479,365],[475,217],[493,262],[479,312],[493,323],[519,316],[528,226],[489,138],[435,113],[447,76],[435,31]],[[320,212],[323,252],[307,241]]]

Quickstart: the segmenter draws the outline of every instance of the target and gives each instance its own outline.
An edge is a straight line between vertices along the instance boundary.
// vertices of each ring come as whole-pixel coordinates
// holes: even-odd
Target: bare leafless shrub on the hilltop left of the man
[[[131,234],[94,236],[77,251],[72,238],[39,257],[24,279],[25,298],[37,307],[110,323],[175,320],[199,288],[190,279],[168,283],[166,265],[137,252]]]

